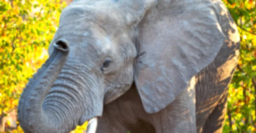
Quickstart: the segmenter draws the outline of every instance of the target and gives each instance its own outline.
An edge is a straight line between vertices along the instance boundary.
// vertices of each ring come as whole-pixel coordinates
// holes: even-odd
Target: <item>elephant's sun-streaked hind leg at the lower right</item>
[[[203,128],[203,133],[222,133],[226,110],[227,92],[223,95],[221,100],[218,102],[218,105],[207,118]]]

